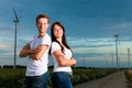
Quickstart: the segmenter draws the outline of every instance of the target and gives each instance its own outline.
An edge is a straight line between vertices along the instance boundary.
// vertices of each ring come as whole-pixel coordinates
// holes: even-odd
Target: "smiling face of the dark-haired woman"
[[[53,28],[53,34],[55,35],[56,38],[62,38],[63,29],[59,25],[55,24]]]

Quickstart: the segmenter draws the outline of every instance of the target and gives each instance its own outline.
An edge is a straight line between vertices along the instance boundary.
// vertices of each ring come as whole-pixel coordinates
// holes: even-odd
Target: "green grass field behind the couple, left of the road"
[[[50,68],[50,73],[52,74]],[[116,69],[108,68],[73,68],[74,75],[72,76],[73,85],[77,85],[84,81],[100,78]],[[23,79],[25,77],[25,68],[1,68],[0,69],[0,88],[22,88]],[[51,87],[52,84],[50,82]]]

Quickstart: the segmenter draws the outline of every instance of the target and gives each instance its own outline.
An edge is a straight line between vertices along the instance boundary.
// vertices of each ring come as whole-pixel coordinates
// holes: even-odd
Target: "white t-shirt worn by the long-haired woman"
[[[58,51],[58,50],[61,50],[61,45],[57,43],[57,42],[53,42],[52,43],[52,56],[53,56],[53,59],[54,59],[54,73],[55,72],[67,72],[67,73],[72,73],[72,68],[70,68],[70,66],[65,66],[65,67],[61,67],[59,65],[58,65],[58,62],[56,61],[56,57],[53,55],[53,52],[55,52],[55,51]],[[64,53],[65,53],[65,57],[67,58],[67,59],[70,59],[70,57],[72,57],[72,51],[70,50],[68,50],[68,48],[64,48]]]

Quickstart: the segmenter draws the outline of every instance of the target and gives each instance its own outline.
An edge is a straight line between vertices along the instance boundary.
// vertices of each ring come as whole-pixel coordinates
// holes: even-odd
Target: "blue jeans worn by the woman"
[[[73,88],[70,75],[65,72],[53,73],[53,88]]]

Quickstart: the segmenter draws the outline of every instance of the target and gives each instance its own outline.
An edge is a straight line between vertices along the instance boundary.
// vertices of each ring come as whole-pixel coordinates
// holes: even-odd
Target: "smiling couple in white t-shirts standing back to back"
[[[52,75],[53,88],[73,88],[70,81],[72,68],[76,64],[73,52],[66,43],[65,29],[59,22],[53,23],[51,37],[46,33],[50,19],[46,14],[36,16],[38,35],[33,36],[21,50],[19,56],[29,56],[23,88],[46,88],[50,78],[47,64],[48,52],[54,59]]]

